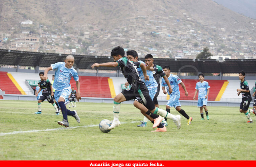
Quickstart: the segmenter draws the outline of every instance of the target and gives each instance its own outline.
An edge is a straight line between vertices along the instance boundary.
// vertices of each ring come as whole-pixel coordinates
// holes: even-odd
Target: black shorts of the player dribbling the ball
[[[137,99],[140,103],[142,103],[148,110],[154,110],[155,105],[152,99],[149,96],[148,88],[142,84],[139,89],[126,89],[122,91],[123,96],[126,101]]]

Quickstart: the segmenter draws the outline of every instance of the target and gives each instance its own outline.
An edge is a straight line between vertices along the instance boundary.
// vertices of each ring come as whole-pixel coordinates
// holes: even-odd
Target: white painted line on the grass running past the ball
[[[127,124],[127,123],[136,123],[138,121],[132,121],[132,122],[121,122],[121,124]],[[14,134],[22,134],[22,133],[34,133],[34,132],[42,132],[42,131],[57,131],[57,130],[65,130],[65,129],[75,129],[75,128],[88,128],[88,127],[95,127],[99,125],[85,125],[85,126],[76,126],[76,127],[68,127],[68,128],[55,128],[55,129],[42,129],[42,130],[29,130],[29,131],[13,131],[13,132],[7,132],[7,133],[0,133],[0,136],[5,135],[14,135]]]

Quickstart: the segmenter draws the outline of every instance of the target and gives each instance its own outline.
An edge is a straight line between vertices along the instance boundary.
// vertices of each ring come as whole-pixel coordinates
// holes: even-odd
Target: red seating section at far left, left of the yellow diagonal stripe
[[[5,94],[22,94],[7,75],[7,72],[0,71],[0,78],[0,89],[4,91]]]

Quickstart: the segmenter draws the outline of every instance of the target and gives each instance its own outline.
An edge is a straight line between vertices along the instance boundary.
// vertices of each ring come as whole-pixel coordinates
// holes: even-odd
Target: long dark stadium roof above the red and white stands
[[[64,61],[68,54],[27,52],[19,50],[0,49],[0,64],[41,66],[49,67],[59,61]],[[73,55],[75,58],[74,67],[80,69],[91,69],[93,63],[112,62],[109,56]],[[144,59],[140,58],[142,61]],[[154,58],[157,65],[169,66],[172,72],[209,72],[209,73],[237,73],[244,70],[246,73],[256,73],[256,59],[170,59]],[[98,67],[98,69],[114,70],[109,67]],[[118,69],[116,67],[115,69]]]

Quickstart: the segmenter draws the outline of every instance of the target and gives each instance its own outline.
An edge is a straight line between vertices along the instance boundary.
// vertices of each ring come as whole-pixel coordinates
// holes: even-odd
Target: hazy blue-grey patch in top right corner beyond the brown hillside
[[[212,0],[237,13],[256,19],[256,0]]]

